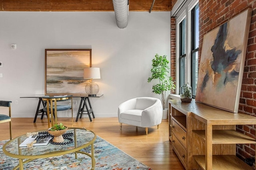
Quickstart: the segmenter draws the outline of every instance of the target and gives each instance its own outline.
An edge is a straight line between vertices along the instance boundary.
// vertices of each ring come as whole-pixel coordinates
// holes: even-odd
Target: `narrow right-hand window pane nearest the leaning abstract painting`
[[[191,10],[191,87],[192,96],[196,96],[198,80],[198,44],[199,44],[199,5]]]

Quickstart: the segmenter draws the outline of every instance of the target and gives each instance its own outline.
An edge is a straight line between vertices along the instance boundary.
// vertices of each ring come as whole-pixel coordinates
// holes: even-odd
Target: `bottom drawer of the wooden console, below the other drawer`
[[[178,139],[175,135],[172,135],[172,147],[178,157],[180,158],[182,164],[186,167],[187,164],[187,151],[184,149],[184,147],[180,144]]]

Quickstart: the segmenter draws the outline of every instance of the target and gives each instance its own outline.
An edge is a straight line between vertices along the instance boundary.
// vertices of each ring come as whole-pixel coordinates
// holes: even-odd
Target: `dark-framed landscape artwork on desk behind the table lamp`
[[[84,68],[91,63],[92,49],[45,49],[45,94],[86,94]]]

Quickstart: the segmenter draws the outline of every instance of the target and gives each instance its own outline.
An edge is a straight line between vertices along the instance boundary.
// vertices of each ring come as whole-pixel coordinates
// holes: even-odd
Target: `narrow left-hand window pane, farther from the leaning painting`
[[[185,83],[186,18],[180,23],[180,87]]]

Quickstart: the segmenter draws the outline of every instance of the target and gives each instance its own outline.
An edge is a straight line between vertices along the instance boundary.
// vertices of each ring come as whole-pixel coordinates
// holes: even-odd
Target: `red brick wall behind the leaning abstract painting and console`
[[[199,58],[204,34],[240,14],[247,8],[252,8],[252,19],[239,111],[256,116],[256,0],[199,0]],[[255,128],[252,125],[238,125],[236,129],[256,138]],[[236,153],[241,159],[254,157],[255,145],[237,145]]]

